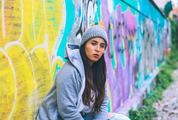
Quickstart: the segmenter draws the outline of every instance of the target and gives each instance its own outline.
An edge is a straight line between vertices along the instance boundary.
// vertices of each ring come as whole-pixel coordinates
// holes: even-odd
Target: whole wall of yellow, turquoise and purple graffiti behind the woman
[[[146,5],[146,6],[145,6]],[[152,80],[170,48],[170,24],[149,0],[1,0],[0,119],[34,119],[67,42],[102,24],[110,112]]]

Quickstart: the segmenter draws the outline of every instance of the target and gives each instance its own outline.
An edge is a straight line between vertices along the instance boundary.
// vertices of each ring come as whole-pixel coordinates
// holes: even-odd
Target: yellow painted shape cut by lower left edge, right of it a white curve
[[[7,119],[14,104],[16,77],[11,61],[2,49],[0,49],[0,61],[0,117]]]

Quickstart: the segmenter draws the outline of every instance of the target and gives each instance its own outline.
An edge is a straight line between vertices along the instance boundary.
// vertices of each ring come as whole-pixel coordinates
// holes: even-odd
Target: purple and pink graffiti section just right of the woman
[[[101,6],[107,8],[106,5],[107,1],[104,0]],[[133,94],[135,76],[138,76],[135,75],[138,72],[138,61],[134,53],[137,22],[129,9],[123,13],[119,5],[111,15],[107,9],[102,9],[102,16],[110,38],[105,58],[112,109],[115,111]]]

